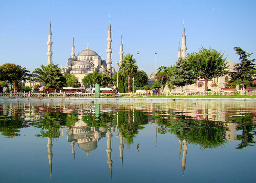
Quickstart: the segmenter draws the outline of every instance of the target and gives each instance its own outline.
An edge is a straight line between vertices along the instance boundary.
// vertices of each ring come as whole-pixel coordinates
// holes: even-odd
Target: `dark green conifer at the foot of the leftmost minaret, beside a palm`
[[[67,86],[66,77],[63,76],[57,65],[52,65],[46,79],[49,80],[48,84],[45,86],[46,89],[54,88],[56,92],[56,90],[59,91],[61,88]]]

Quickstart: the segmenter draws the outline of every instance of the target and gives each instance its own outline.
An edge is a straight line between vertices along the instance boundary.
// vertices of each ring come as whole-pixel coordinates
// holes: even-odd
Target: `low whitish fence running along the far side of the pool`
[[[162,92],[162,93],[118,93],[104,94],[100,93],[100,97],[148,97],[148,96],[209,96],[209,95],[256,95],[256,90],[250,91],[207,91],[207,92]],[[94,97],[94,93],[0,93],[0,97]]]

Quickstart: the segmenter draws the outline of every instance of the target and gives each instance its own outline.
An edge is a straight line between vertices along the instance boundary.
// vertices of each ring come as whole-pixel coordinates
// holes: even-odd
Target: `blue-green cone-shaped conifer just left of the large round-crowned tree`
[[[195,83],[195,75],[189,63],[184,58],[178,58],[176,69],[173,71],[170,82],[176,86],[180,86],[182,92],[184,86]]]

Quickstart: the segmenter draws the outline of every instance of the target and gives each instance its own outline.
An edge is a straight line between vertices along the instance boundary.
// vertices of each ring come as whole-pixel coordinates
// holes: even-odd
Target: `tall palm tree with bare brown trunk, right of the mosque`
[[[136,65],[136,59],[132,58],[132,54],[128,53],[124,56],[123,63],[120,66],[120,72],[123,75],[128,75],[128,93],[132,92],[131,88],[131,75],[136,74],[138,66]]]

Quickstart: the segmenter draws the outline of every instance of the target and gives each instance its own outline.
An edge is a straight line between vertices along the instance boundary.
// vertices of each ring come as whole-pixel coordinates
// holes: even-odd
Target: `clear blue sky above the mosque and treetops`
[[[148,76],[157,67],[174,65],[185,22],[187,53],[200,46],[225,51],[238,63],[233,47],[255,52],[256,1],[2,1],[0,65],[14,63],[33,71],[47,63],[49,20],[52,61],[67,65],[74,35],[76,55],[89,48],[107,59],[109,15],[112,66],[124,54],[136,58]],[[139,52],[139,54],[137,54]],[[251,56],[251,59],[256,55]]]

